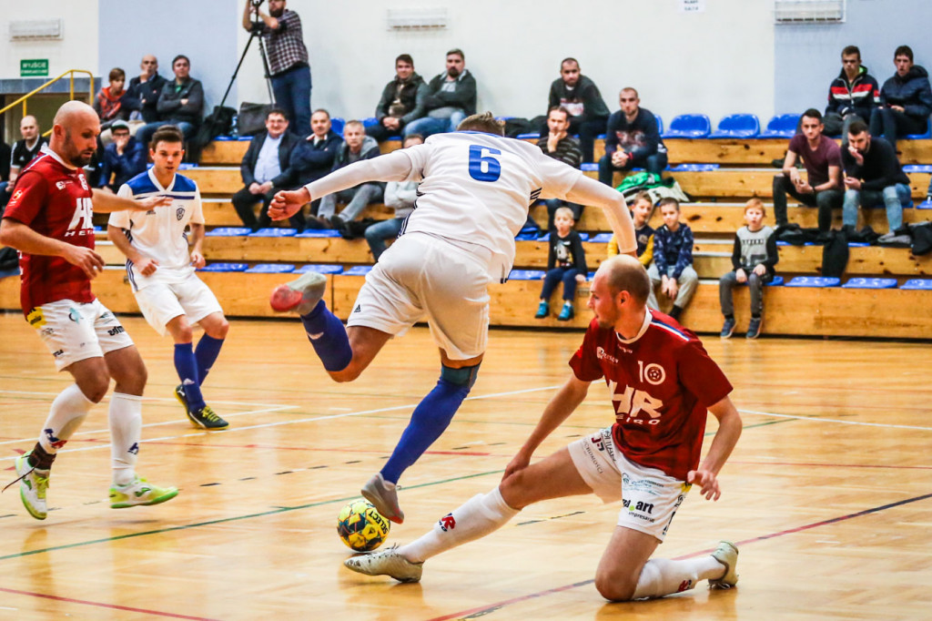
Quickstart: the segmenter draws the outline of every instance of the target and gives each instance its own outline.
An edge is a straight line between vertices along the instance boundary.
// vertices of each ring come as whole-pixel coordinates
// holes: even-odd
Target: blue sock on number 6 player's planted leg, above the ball
[[[415,408],[398,446],[385,462],[381,472],[386,481],[397,483],[402,473],[444,433],[469,390],[468,386],[437,381],[433,390]]]

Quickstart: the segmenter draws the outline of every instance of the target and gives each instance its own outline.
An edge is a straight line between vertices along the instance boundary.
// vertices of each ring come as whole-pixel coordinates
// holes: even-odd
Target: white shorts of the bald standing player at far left
[[[59,371],[132,345],[114,313],[97,299],[86,304],[70,299],[49,302],[33,309],[26,321],[45,341]]]

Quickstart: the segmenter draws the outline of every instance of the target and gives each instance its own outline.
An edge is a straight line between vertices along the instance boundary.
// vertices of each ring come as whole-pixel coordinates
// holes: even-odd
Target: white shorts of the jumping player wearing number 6
[[[391,244],[365,277],[347,325],[401,335],[427,317],[437,346],[452,360],[486,352],[488,275],[467,250],[409,233]]]

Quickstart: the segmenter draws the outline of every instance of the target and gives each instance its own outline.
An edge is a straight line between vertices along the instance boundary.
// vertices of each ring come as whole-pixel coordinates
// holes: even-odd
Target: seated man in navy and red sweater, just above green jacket
[[[622,109],[609,117],[605,155],[598,160],[598,180],[612,186],[615,171],[643,168],[660,174],[666,168],[666,146],[660,137],[657,117],[640,107],[637,90],[630,87],[618,94]]]

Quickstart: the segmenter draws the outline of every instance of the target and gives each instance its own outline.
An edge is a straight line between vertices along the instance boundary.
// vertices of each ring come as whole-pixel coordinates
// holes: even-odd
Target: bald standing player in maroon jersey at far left
[[[88,104],[63,104],[48,146],[17,179],[0,225],[0,243],[20,251],[26,321],[45,341],[56,368],[75,378],[52,402],[35,447],[16,460],[22,504],[36,519],[47,516],[52,462],[101,402],[111,378],[117,386],[109,408],[110,506],[164,503],[178,494],[136,476],[145,365],[123,326],[90,291],[91,279],[103,270],[103,258],[94,252],[93,210],[158,211],[168,201],[133,202],[91,190],[81,167],[93,156],[100,133],[100,119]]]

